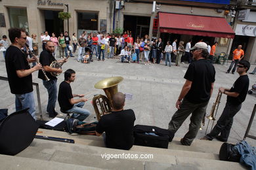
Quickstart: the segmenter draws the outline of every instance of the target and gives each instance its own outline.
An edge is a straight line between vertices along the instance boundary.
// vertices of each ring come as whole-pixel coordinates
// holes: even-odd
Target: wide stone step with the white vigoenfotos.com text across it
[[[104,154],[106,156],[116,154],[119,158],[108,160],[102,158]],[[174,167],[182,169],[185,167],[192,169],[244,169],[239,163],[185,157],[185,155],[152,154],[153,157],[151,158],[139,159],[133,158],[135,154],[140,157],[141,154],[148,153],[35,139],[31,146],[16,156],[104,169],[154,169],[153,165],[162,167],[160,169],[166,169],[167,167],[170,169]],[[209,168],[209,166],[211,167]]]

